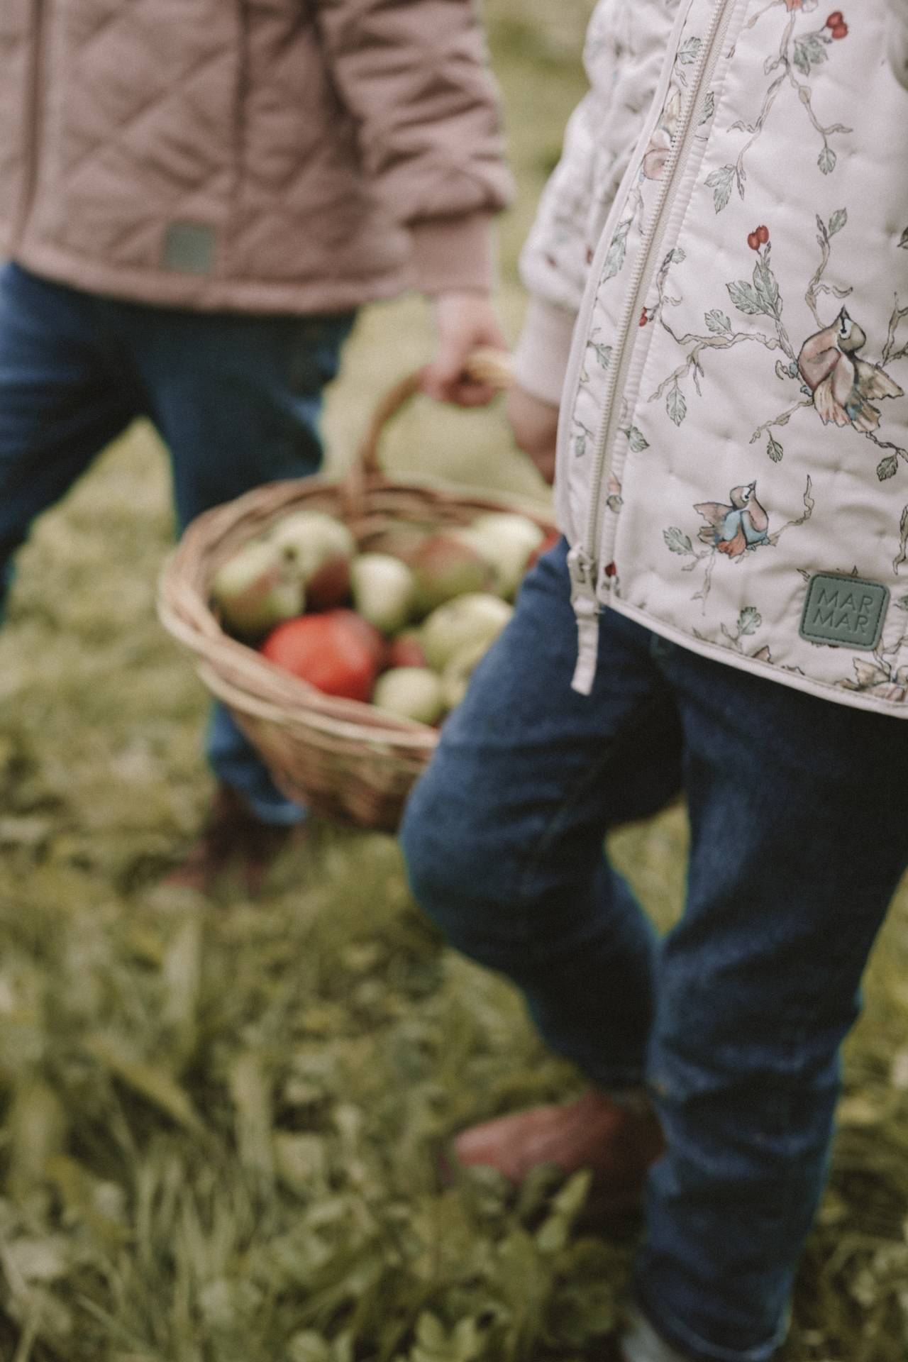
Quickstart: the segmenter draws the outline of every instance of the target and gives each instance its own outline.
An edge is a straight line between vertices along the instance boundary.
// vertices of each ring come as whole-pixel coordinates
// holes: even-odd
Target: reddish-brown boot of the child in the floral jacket
[[[591,1169],[587,1211],[596,1219],[640,1207],[647,1173],[663,1148],[652,1111],[621,1106],[596,1088],[566,1106],[534,1107],[475,1125],[453,1141],[457,1163],[498,1169],[515,1184],[542,1163],[568,1174]]]

